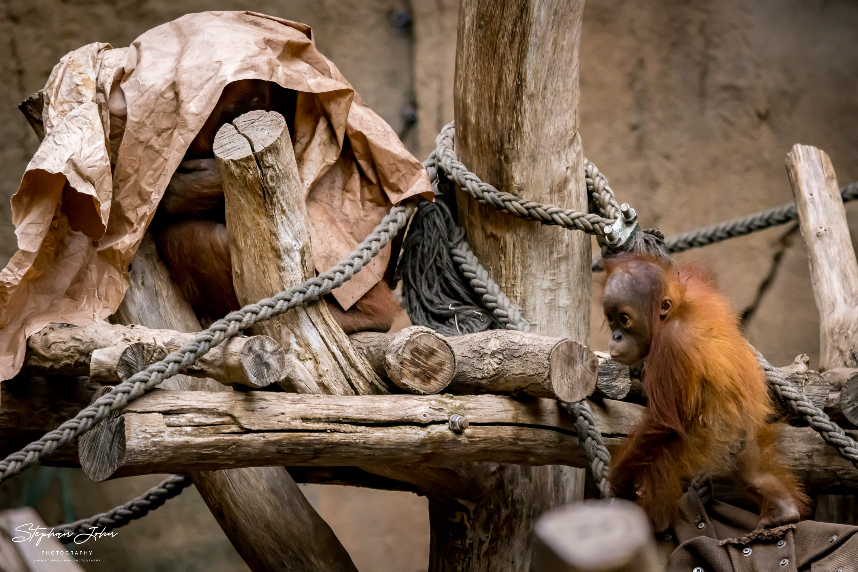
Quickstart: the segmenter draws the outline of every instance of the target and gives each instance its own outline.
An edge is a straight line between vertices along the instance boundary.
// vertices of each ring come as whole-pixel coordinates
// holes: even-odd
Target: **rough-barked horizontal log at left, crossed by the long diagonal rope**
[[[175,352],[195,335],[107,322],[60,326],[49,324],[27,339],[28,373],[88,375],[95,382],[118,383]],[[280,379],[284,356],[281,347],[267,336],[236,337],[197,359],[185,374],[210,377],[223,385],[241,383],[262,388]]]

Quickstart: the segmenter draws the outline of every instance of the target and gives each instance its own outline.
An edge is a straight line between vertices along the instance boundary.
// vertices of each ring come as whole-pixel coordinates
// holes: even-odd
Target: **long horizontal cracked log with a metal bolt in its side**
[[[612,450],[644,411],[608,399],[590,405]],[[468,429],[450,430],[453,413],[468,418]],[[361,467],[372,473],[390,463],[589,464],[574,419],[548,399],[154,390],[132,401],[118,419],[118,444],[110,460],[101,461],[106,467],[100,473],[109,478],[260,464]],[[813,429],[785,427],[782,449],[811,488],[858,487],[858,469]]]

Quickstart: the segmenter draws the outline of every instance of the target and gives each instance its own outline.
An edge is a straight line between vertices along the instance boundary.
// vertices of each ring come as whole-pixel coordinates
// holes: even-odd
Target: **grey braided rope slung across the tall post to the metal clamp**
[[[440,166],[450,180],[456,181],[463,190],[468,191],[471,196],[485,204],[492,205],[505,213],[513,214],[519,218],[536,220],[543,225],[563,226],[564,228],[604,236],[605,226],[611,226],[616,220],[604,218],[598,214],[582,213],[571,208],[559,208],[554,205],[541,202],[528,201],[520,196],[500,191],[491,184],[483,183],[479,177],[462,165],[453,150],[453,135],[456,128],[454,122],[447,123],[441,133],[435,139],[436,149],[429,155],[426,163]],[[592,173],[592,184],[598,189],[592,196],[600,208],[600,212],[609,214],[619,212],[616,199],[613,199],[613,191],[607,186],[607,180],[601,176],[595,166],[589,172]],[[604,209],[604,210],[602,210]],[[614,211],[614,209],[616,209]]]

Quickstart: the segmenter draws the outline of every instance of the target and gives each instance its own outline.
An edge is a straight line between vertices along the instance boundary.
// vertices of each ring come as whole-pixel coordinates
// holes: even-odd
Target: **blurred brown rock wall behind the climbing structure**
[[[0,263],[15,251],[9,197],[38,145],[18,102],[43,87],[67,51],[93,41],[128,45],[150,27],[206,9],[251,9],[313,26],[321,50],[420,158],[452,119],[456,0],[0,0]],[[831,155],[841,184],[856,180],[856,29],[854,0],[588,0],[584,153],[644,226],[668,236],[789,202],[783,160],[796,142]],[[847,207],[858,232],[856,209]],[[709,264],[738,310],[756,308],[746,333],[772,363],[808,353],[814,366],[818,316],[801,236],[790,229],[680,258]],[[602,349],[607,333],[596,307],[593,316],[590,343]],[[160,479],[94,485],[63,471],[76,518]],[[57,474],[39,498],[38,473],[12,479],[0,487],[0,506],[24,499],[49,524],[63,521]],[[425,499],[324,486],[305,493],[360,570],[426,570]],[[246,569],[193,489],[93,550],[102,561],[88,570]]]

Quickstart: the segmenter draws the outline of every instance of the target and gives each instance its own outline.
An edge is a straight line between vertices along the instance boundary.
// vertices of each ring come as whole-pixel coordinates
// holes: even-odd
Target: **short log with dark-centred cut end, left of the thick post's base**
[[[348,339],[379,377],[409,393],[437,394],[453,379],[453,350],[430,328],[411,326],[396,334],[360,332]]]

